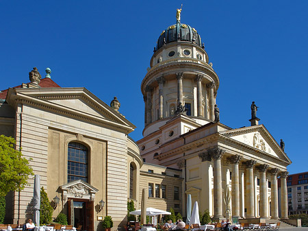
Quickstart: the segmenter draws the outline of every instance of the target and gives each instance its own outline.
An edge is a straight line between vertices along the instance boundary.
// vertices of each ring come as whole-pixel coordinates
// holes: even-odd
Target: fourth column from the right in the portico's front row
[[[255,194],[254,194],[254,184],[253,184],[253,166],[255,165],[255,160],[246,161],[246,202],[247,202],[247,217],[255,218]]]

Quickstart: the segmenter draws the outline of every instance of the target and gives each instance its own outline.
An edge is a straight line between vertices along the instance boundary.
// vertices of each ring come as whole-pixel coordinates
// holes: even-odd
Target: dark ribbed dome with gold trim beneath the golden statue
[[[162,32],[157,40],[156,51],[169,42],[194,42],[194,44],[201,46],[201,37],[198,32],[190,25],[180,23],[170,25],[166,30]]]

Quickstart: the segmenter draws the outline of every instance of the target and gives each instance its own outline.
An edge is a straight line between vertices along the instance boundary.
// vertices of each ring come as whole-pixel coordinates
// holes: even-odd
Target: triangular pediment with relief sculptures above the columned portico
[[[242,127],[235,130],[220,132],[220,134],[259,151],[264,151],[270,156],[291,163],[291,160],[287,157],[268,130],[266,130],[264,125]]]

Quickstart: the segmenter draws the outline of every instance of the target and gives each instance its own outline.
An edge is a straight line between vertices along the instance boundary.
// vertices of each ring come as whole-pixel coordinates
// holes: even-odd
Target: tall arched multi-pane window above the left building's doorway
[[[68,144],[67,182],[88,182],[88,148],[80,143]]]

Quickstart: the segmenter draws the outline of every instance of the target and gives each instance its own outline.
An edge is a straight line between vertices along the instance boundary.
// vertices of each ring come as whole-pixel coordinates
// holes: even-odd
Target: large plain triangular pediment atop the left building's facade
[[[44,110],[65,114],[66,117],[77,117],[126,133],[136,128],[122,114],[110,108],[86,88],[11,88],[9,94],[12,97],[9,95],[8,100],[12,100],[13,104],[14,98],[22,100],[31,97],[29,103],[43,107]]]

